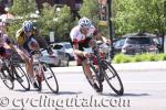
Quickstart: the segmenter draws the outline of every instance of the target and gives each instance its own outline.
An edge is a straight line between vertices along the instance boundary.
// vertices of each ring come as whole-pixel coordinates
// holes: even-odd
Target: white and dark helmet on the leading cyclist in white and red
[[[91,25],[92,25],[92,23],[91,23],[91,20],[90,19],[87,19],[87,18],[82,18],[82,19],[80,19],[79,20],[79,25],[81,26],[81,28],[91,28]]]

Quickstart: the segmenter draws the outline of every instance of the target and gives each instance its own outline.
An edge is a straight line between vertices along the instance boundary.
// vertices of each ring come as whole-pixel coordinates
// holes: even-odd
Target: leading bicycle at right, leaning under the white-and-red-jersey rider
[[[122,80],[115,70],[115,68],[111,65],[111,63],[104,58],[102,58],[102,55],[100,53],[100,45],[96,43],[93,45],[93,47],[84,48],[85,52],[91,53],[91,56],[87,57],[87,63],[90,65],[90,68],[93,73],[93,79],[96,82],[100,91],[103,91],[103,81],[104,79],[108,84],[108,86],[120,96],[124,94],[124,87],[122,84]],[[93,58],[96,59],[97,68],[93,63]],[[84,75],[85,70],[83,68]],[[89,80],[87,76],[86,79]],[[113,80],[116,79],[116,80]],[[93,87],[91,81],[89,80],[90,85]]]

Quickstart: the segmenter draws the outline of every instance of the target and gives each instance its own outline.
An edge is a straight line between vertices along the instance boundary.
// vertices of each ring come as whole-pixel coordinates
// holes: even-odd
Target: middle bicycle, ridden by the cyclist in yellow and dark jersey
[[[48,48],[43,48],[41,51],[31,51],[30,54],[32,55],[33,58],[33,70],[35,73],[34,80],[38,82],[38,89],[41,91],[42,89],[42,81],[45,80],[45,84],[50,88],[50,90],[54,94],[59,92],[59,84],[58,79],[55,77],[55,74],[51,69],[51,67],[42,62],[41,57],[42,51],[45,51]]]

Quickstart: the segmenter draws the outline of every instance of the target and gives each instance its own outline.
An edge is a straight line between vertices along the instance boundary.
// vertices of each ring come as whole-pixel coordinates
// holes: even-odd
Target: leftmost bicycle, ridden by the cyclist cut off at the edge
[[[25,90],[30,90],[30,81],[20,66],[19,61],[14,56],[18,56],[17,52],[9,52],[10,55],[4,58],[1,57],[0,78],[2,82],[9,88],[14,88],[14,80],[17,80]]]

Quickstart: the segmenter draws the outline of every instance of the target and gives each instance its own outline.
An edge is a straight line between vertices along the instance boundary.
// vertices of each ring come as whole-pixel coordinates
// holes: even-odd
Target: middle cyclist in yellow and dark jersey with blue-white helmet
[[[34,30],[31,21],[24,21],[22,23],[22,28],[17,31],[15,37],[18,47],[21,50],[18,53],[21,58],[25,62],[25,69],[30,76],[30,80],[34,88],[39,88],[37,81],[34,80],[34,72],[33,72],[33,61],[30,55],[30,51],[39,51],[40,46],[34,38]]]

